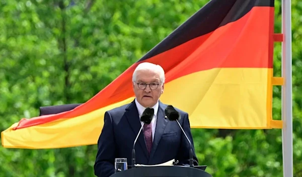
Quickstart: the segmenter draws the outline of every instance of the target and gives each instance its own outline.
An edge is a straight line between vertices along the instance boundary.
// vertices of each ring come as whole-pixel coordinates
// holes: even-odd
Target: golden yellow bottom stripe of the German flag
[[[165,84],[161,101],[189,113],[191,127],[265,129],[271,123],[272,69],[215,68]],[[82,116],[2,132],[4,147],[60,148],[96,144],[104,113],[134,97]],[[269,116],[269,117],[268,117]],[[276,123],[274,124],[274,127]],[[278,124],[278,126],[282,126]],[[55,130],[55,131],[54,131]]]

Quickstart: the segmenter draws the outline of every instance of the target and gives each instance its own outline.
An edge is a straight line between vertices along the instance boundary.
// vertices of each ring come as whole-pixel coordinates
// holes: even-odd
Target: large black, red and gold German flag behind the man
[[[2,132],[9,148],[96,144],[107,110],[134,99],[141,62],[166,72],[161,101],[189,113],[192,128],[281,128],[272,119],[273,0],[212,0],[86,103],[22,119]]]

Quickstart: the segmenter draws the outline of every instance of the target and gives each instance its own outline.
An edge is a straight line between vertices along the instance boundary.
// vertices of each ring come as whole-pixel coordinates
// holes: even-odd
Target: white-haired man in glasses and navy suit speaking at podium
[[[142,125],[139,118],[146,107],[154,108],[154,117],[150,124],[144,125],[136,141],[136,163],[160,164],[175,159],[179,161],[177,165],[189,165],[190,145],[177,122],[165,119],[167,105],[159,101],[164,92],[164,69],[152,63],[141,63],[133,72],[132,83],[133,102],[105,113],[94,165],[98,177],[114,173],[115,158],[127,158],[128,165],[131,165],[133,142]],[[193,145],[188,113],[176,110]],[[198,165],[194,148],[193,158],[194,165]]]

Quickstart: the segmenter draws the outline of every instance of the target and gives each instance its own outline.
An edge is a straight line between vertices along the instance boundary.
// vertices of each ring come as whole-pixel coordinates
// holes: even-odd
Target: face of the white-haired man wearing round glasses
[[[145,87],[145,88],[144,88]],[[160,75],[154,71],[139,70],[133,83],[135,97],[143,107],[154,106],[164,91]]]

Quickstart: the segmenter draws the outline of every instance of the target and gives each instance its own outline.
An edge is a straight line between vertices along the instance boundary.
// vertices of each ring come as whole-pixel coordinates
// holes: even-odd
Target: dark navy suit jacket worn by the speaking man
[[[143,131],[141,131],[135,144],[137,164],[159,164],[175,159],[179,160],[177,165],[189,165],[189,142],[176,121],[165,119],[166,107],[167,105],[159,103],[155,137],[150,155],[147,153]],[[193,145],[188,113],[175,109],[179,111],[181,115],[179,122]],[[104,126],[98,140],[98,152],[94,165],[95,175],[108,177],[113,174],[115,158],[127,158],[128,165],[131,165],[133,142],[140,127],[134,101],[105,112]],[[194,148],[193,158],[194,165],[198,165]]]

